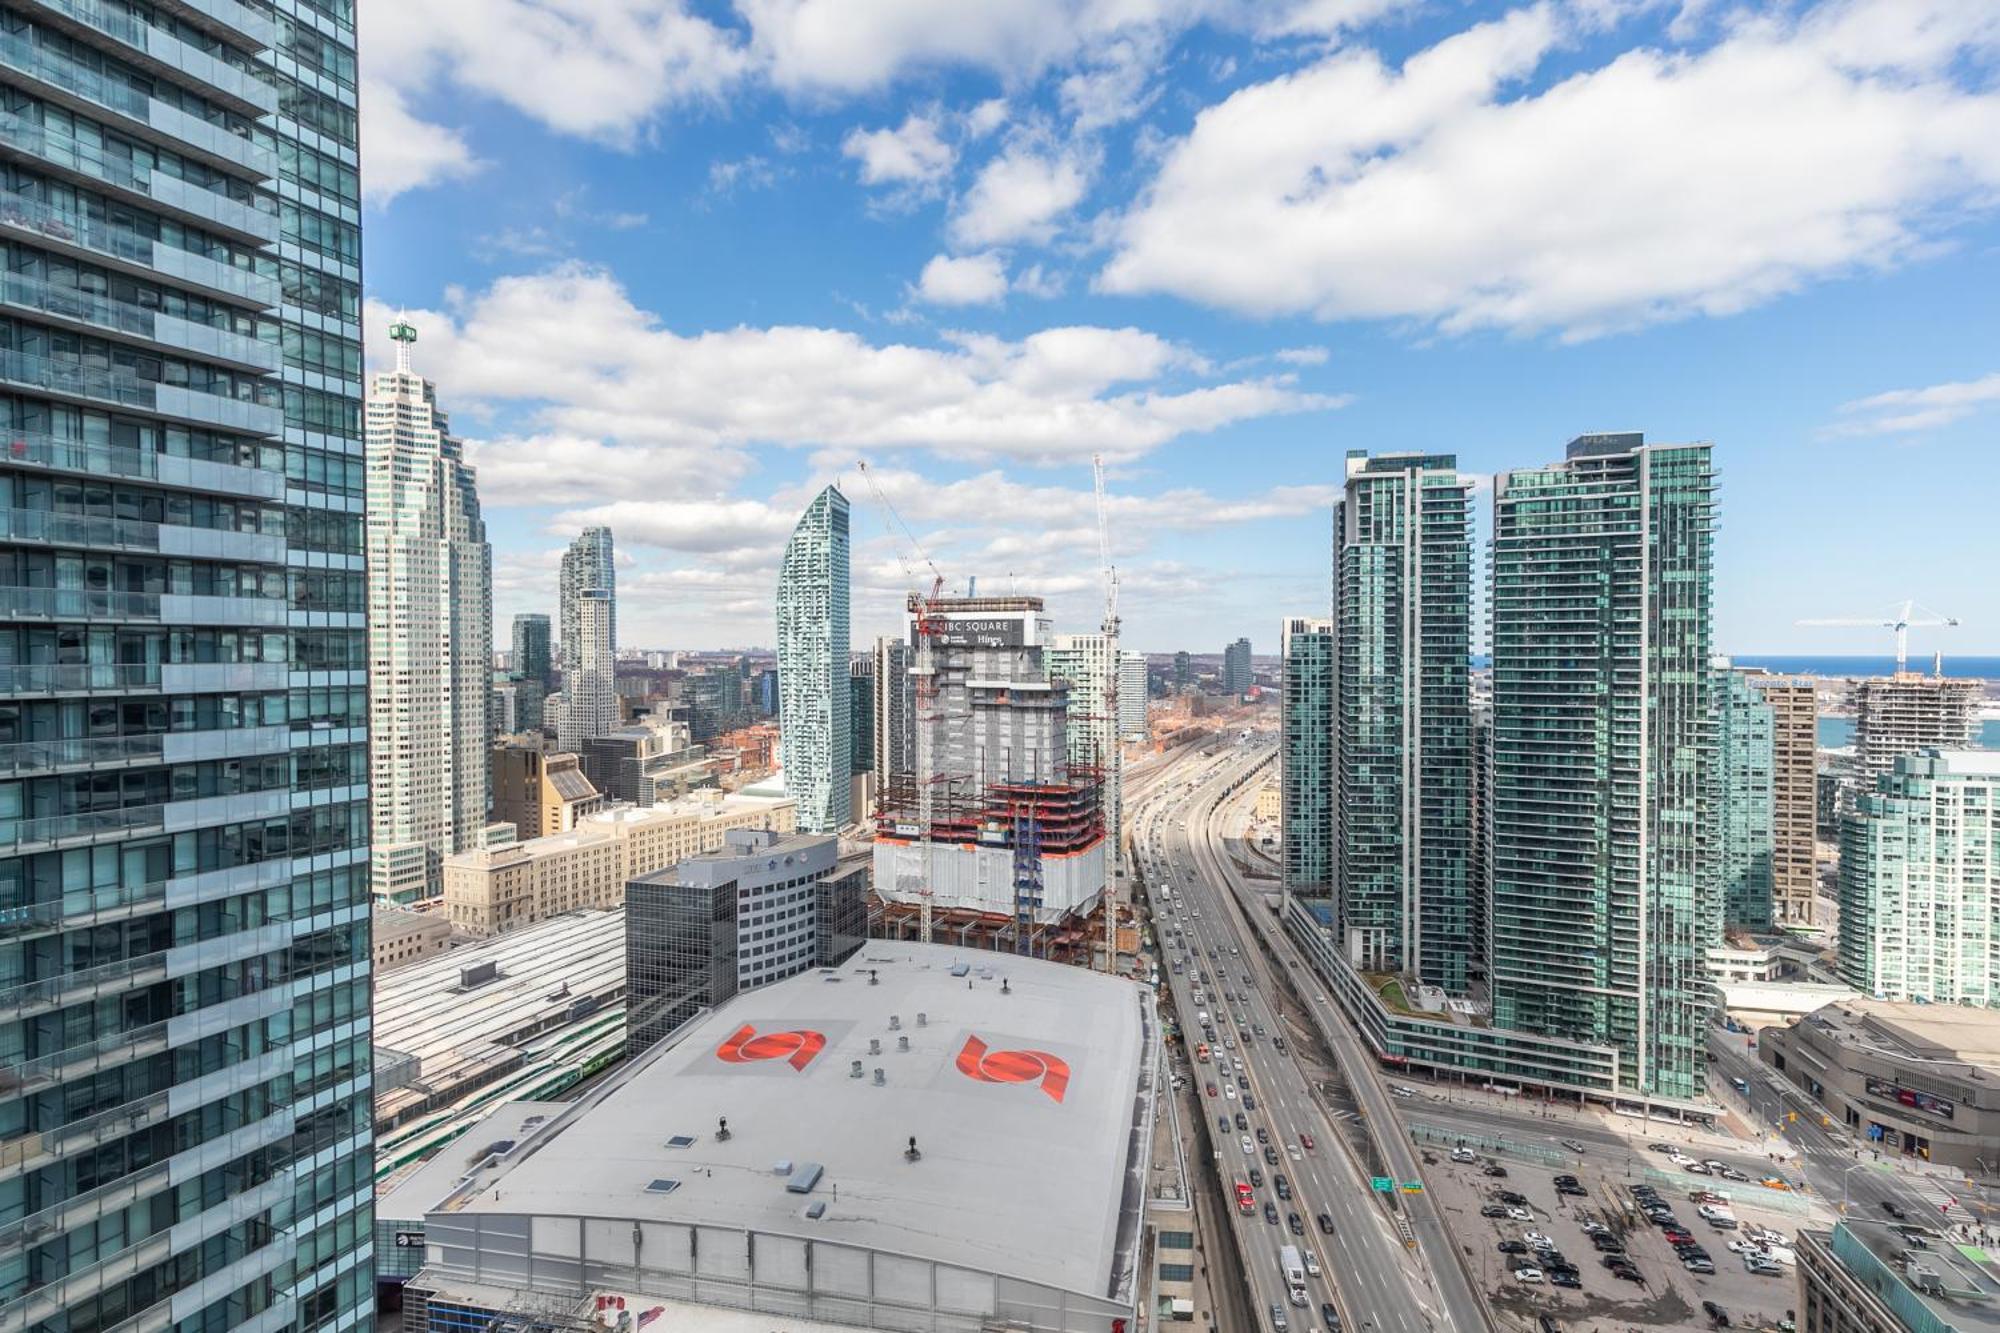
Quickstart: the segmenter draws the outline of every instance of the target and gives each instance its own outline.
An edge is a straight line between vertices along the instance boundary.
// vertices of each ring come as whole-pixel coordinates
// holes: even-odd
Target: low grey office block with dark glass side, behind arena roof
[[[846,963],[866,937],[868,869],[842,873],[838,857],[830,833],[730,829],[722,847],[626,883],[628,1049],[740,991]],[[822,937],[846,953],[822,955]]]

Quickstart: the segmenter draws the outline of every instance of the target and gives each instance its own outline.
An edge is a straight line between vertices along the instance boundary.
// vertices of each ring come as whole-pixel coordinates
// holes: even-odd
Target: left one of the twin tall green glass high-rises
[[[1470,486],[1352,452],[1334,504],[1334,905],[1356,967],[1454,995],[1474,967]]]

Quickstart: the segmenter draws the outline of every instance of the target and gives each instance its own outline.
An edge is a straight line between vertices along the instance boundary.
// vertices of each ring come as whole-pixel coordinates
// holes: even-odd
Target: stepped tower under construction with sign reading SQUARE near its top
[[[934,939],[1088,945],[1106,879],[1102,779],[1070,763],[1042,598],[912,594],[908,612],[920,763],[880,797],[876,929],[920,933],[928,911]]]

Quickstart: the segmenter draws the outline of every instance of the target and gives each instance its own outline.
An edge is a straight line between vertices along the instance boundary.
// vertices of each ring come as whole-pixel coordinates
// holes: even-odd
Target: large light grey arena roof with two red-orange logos
[[[740,1227],[1130,1299],[1148,1015],[1128,981],[870,941],[696,1019],[442,1211]]]

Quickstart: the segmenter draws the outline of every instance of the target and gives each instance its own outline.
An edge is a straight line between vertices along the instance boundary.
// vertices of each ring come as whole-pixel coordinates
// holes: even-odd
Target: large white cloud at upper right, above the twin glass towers
[[[1338,50],[1204,110],[1100,284],[1590,336],[1910,262],[2000,198],[2000,94],[1964,82],[1996,14],[1840,0],[1522,94],[1568,36],[1548,4],[1402,68]]]

